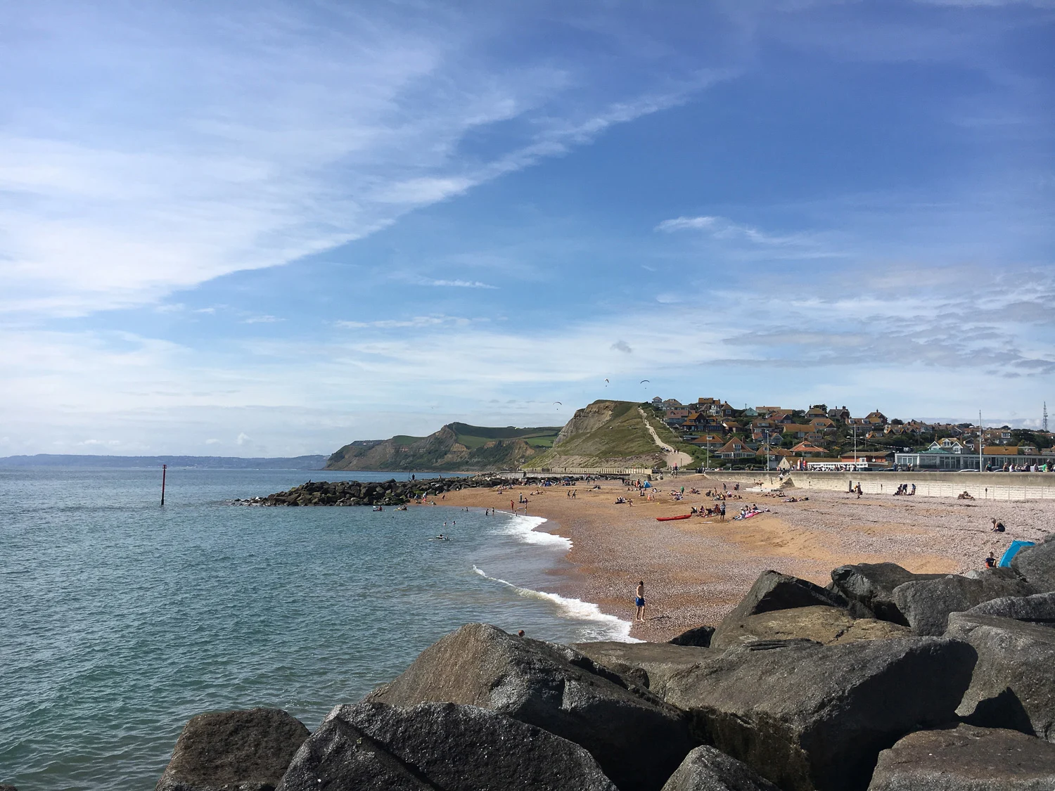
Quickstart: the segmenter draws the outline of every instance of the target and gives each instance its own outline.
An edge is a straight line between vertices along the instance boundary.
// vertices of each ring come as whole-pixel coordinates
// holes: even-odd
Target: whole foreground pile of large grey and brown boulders
[[[195,717],[158,789],[1055,789],[1055,535],[999,574],[831,578],[766,572],[671,643],[467,624],[313,733]]]

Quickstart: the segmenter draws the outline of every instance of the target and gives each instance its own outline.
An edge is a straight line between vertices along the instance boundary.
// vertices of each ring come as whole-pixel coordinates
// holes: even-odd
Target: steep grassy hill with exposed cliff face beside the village
[[[595,401],[560,429],[553,448],[523,466],[652,467],[666,464],[638,412],[629,401]]]

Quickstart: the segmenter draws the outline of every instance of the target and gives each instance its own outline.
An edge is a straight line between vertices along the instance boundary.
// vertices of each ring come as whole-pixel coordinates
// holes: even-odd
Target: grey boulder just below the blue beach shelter
[[[894,590],[894,601],[914,633],[937,636],[945,632],[950,613],[962,613],[992,599],[1033,593],[1033,587],[1011,568],[986,568],[973,577],[950,574],[905,582]]]

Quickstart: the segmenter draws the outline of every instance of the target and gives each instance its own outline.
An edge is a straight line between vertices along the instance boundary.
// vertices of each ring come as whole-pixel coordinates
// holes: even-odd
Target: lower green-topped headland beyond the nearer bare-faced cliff
[[[493,428],[449,423],[428,437],[359,440],[333,454],[326,469],[516,469],[553,446],[560,428]]]

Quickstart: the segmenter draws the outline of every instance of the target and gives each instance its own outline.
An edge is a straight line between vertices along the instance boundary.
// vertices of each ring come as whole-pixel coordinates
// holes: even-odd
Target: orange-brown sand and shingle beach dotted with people
[[[733,499],[727,520],[716,518],[658,522],[656,517],[688,514],[692,506],[713,505],[705,494],[722,482],[688,475],[654,482],[655,500],[628,493],[619,481],[575,488],[534,485],[447,493],[443,505],[510,510],[511,499],[528,498],[528,514],[549,521],[542,529],[572,540],[568,560],[573,571],[554,573],[552,593],[592,601],[610,615],[634,616],[633,594],[646,583],[647,620],[634,623],[631,636],[667,640],[692,626],[717,623],[740,600],[760,573],[774,568],[811,580],[830,581],[844,563],[894,561],[913,572],[961,573],[982,567],[990,552],[999,554],[1014,539],[1036,540],[1055,530],[1055,501],[981,503],[945,498],[856,496],[808,493],[808,501],[784,503],[778,497],[741,491],[726,482]],[[685,487],[685,499],[671,491]],[[802,496],[789,488],[789,497]],[[633,497],[633,506],[615,504]],[[741,499],[736,499],[736,497]],[[744,504],[769,508],[743,521],[732,517]],[[990,532],[996,517],[1008,527]]]

